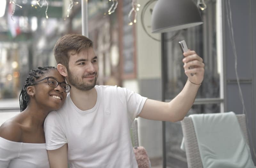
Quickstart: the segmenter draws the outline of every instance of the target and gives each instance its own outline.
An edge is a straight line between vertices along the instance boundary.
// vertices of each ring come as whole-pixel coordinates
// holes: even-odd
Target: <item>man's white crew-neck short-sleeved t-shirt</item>
[[[146,97],[126,88],[95,86],[97,102],[82,111],[70,96],[44,121],[46,149],[68,144],[70,168],[137,168],[130,127]]]

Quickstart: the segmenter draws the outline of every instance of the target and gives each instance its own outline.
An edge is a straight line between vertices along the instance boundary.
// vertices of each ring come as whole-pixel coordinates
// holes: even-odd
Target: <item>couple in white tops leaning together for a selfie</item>
[[[0,127],[0,167],[138,167],[130,139],[134,118],[182,120],[203,81],[202,58],[195,51],[183,55],[188,81],[172,101],[160,102],[126,88],[95,86],[99,67],[92,41],[61,37],[54,47],[57,69],[30,71],[22,113]]]

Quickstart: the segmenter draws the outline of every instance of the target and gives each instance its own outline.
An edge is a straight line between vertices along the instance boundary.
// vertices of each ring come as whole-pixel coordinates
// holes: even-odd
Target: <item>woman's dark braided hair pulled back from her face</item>
[[[28,106],[29,96],[27,93],[27,87],[32,86],[36,79],[42,76],[44,72],[47,72],[49,69],[56,69],[55,67],[37,67],[37,69],[30,70],[26,82],[24,83],[21,92],[20,92],[20,112],[25,110]]]

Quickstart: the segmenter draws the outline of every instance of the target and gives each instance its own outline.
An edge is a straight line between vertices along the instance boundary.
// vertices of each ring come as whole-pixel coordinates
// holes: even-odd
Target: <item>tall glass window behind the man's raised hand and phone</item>
[[[221,60],[217,50],[216,1],[205,2],[207,8],[201,11],[203,25],[181,30],[174,39],[169,40],[177,32],[164,34],[164,54],[166,57],[165,99],[173,99],[184,87],[187,76],[183,68],[183,55],[178,41],[186,40],[188,48],[195,50],[204,59],[204,81],[196,95],[195,104],[188,112],[219,113],[222,111],[221,98]],[[180,122],[165,122],[165,158],[167,167],[187,167],[185,152],[181,151],[182,130]]]

